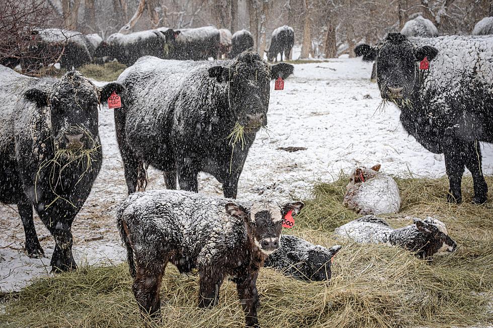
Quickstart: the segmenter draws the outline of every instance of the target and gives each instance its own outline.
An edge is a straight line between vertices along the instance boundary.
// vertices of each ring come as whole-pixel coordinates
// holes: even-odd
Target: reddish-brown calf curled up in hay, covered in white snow
[[[372,168],[356,168],[351,175],[344,204],[360,214],[397,213],[400,208],[399,188],[392,177]]]

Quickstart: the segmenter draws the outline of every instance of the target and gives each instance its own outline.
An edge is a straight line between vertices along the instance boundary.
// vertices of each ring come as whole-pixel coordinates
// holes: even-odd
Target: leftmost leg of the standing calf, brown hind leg
[[[136,265],[137,274],[132,284],[132,290],[142,316],[149,315],[155,318],[161,314],[159,289],[168,260],[165,258],[159,260],[159,263],[152,263],[147,266],[141,263]]]

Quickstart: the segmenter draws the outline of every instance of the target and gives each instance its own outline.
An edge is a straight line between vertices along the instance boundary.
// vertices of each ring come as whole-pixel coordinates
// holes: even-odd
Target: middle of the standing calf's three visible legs
[[[224,274],[222,267],[208,267],[199,273],[199,307],[213,307],[219,302],[219,289],[221,288]]]

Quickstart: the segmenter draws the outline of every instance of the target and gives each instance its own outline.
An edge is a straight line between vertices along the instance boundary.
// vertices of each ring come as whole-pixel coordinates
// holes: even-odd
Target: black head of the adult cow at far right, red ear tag
[[[359,45],[354,52],[365,61],[375,61],[381,97],[397,102],[412,96],[419,82],[418,63],[425,57],[431,61],[438,54],[430,46],[415,47],[400,33],[389,33],[376,47]]]

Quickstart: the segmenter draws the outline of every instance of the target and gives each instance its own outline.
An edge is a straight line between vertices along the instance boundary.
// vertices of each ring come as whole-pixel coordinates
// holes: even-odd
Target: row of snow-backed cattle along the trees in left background
[[[26,49],[4,58],[0,64],[11,68],[21,65],[25,69],[33,69],[42,65],[50,54],[59,54],[57,61],[66,69],[113,59],[130,66],[142,56],[176,60],[234,58],[254,47],[254,38],[249,31],[240,30],[231,35],[227,29],[212,26],[193,29],[161,27],[129,34],[114,33],[106,40],[98,34],[37,29],[31,32],[30,38],[34,42]],[[293,45],[294,30],[288,26],[277,28],[272,33],[270,48],[266,51],[269,60],[277,60],[278,54],[281,54],[281,60],[283,54],[289,59]]]

